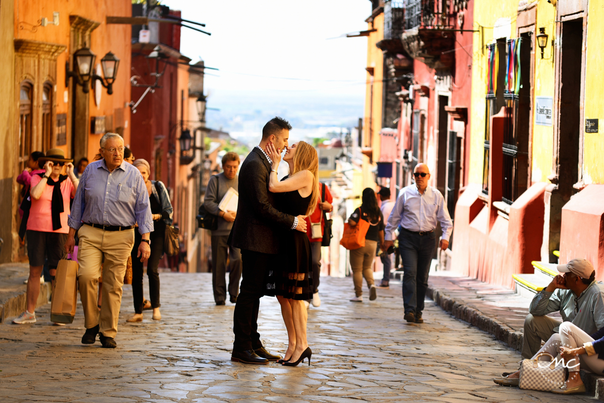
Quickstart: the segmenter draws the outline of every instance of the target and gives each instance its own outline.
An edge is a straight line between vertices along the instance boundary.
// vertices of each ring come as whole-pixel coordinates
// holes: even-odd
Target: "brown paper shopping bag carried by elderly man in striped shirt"
[[[78,263],[61,259],[54,277],[50,320],[56,323],[72,323],[76,316]]]

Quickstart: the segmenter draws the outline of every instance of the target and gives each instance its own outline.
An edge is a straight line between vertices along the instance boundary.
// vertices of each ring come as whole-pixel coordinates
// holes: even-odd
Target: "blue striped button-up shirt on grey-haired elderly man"
[[[134,165],[122,162],[109,172],[104,159],[88,164],[80,177],[69,227],[79,229],[82,223],[130,226],[138,223],[141,234],[153,231],[149,192]]]

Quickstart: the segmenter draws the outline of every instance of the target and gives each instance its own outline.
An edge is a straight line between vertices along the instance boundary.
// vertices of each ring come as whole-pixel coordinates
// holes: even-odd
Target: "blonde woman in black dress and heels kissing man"
[[[291,215],[309,215],[316,208],[319,198],[319,159],[315,148],[300,141],[288,148],[283,160],[289,165],[289,175],[281,182],[277,179],[277,168],[281,154],[273,144],[268,144],[272,170],[269,176],[269,191],[279,193],[277,204],[281,212]],[[288,350],[284,366],[297,366],[308,358],[312,351],[306,340],[307,311],[304,300],[312,298],[312,252],[306,233],[291,231],[283,235],[280,245],[278,266],[269,270],[268,295],[275,295],[281,304],[281,314],[288,329]]]

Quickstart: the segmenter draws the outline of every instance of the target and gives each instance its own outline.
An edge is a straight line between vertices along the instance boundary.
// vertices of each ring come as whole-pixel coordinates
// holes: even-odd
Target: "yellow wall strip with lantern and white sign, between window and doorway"
[[[545,28],[549,35],[548,45],[544,51],[544,59],[541,59],[541,49],[535,46],[535,77],[533,79],[534,97],[554,96],[554,49],[551,40],[555,39],[556,8],[547,1],[539,1],[537,5],[536,33],[539,27]],[[554,100],[554,107],[556,101]],[[533,158],[531,162],[532,182],[549,182],[547,177],[551,174],[552,157],[554,153],[554,128],[552,126],[541,126],[535,124],[535,98],[533,98]]]

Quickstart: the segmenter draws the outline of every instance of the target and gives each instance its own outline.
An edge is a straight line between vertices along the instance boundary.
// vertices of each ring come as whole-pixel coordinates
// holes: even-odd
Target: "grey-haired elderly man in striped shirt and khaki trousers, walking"
[[[106,133],[100,145],[103,159],[91,162],[80,178],[69,215],[65,250],[73,252],[78,230],[78,284],[86,326],[82,343],[94,344],[99,334],[103,347],[115,348],[121,287],[134,244],[134,226],[138,223],[143,238],[137,256],[144,262],[151,252],[149,233],[153,231],[153,218],[143,176],[124,162],[124,139],[116,133]],[[99,313],[101,264],[103,304]]]

